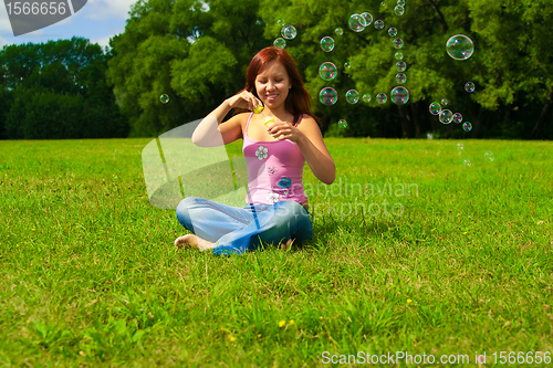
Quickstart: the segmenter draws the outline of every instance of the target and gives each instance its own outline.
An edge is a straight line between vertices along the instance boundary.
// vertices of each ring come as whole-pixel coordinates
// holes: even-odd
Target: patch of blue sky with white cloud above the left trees
[[[23,0],[24,1],[24,0]],[[32,2],[31,0],[29,0]],[[125,31],[131,6],[137,0],[87,0],[72,17],[31,33],[13,36],[4,1],[0,1],[0,50],[9,44],[45,43],[82,36],[107,46],[109,38]]]

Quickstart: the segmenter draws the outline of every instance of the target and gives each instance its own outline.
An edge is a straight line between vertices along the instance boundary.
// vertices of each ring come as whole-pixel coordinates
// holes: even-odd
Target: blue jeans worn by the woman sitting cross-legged
[[[177,206],[177,219],[186,230],[215,242],[218,255],[254,251],[263,243],[313,239],[310,213],[295,201],[239,208],[188,197]]]

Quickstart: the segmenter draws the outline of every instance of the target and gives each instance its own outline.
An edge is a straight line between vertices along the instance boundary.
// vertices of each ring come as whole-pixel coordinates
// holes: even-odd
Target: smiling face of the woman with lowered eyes
[[[276,60],[261,67],[255,77],[259,99],[270,109],[284,106],[291,86],[286,69]]]

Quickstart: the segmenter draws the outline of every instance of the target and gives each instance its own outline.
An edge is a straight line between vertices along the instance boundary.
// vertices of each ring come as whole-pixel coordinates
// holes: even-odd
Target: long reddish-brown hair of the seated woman
[[[311,95],[303,86],[302,76],[295,67],[298,63],[286,51],[282,49],[273,46],[265,48],[253,56],[250,65],[248,66],[248,71],[246,72],[244,91],[251,92],[259,98],[255,90],[255,77],[258,76],[259,71],[273,60],[278,61],[285,67],[290,82],[292,83],[292,88],[290,88],[286,101],[284,102],[284,108],[290,114],[294,115],[294,122],[298,122],[303,114],[306,114],[313,117],[319,124],[319,118],[311,112]]]

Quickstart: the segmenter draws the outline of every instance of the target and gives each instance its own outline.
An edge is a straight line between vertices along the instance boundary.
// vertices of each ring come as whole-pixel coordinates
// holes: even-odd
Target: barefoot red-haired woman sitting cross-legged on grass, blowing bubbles
[[[198,146],[209,147],[243,138],[248,166],[248,196],[243,208],[189,197],[177,207],[179,222],[194,234],[175,240],[213,254],[243,253],[264,243],[313,238],[309,201],[303,188],[307,161],[315,177],[326,185],[335,178],[335,165],[311,116],[311,96],[303,86],[294,60],[275,48],[261,50],[246,73],[246,88],[226,99],[204,119],[192,135]],[[264,107],[262,107],[264,106]],[[225,123],[231,109],[241,113]],[[209,122],[217,122],[215,125]],[[265,126],[263,123],[270,120]]]

